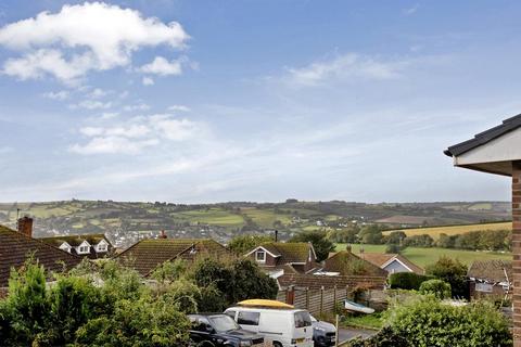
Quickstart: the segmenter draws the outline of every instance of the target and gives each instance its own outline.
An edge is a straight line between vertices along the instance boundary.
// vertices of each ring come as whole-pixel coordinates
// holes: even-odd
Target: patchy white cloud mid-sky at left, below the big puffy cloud
[[[84,127],[79,132],[88,139],[86,144],[74,144],[71,152],[89,154],[137,154],[162,142],[180,142],[193,138],[203,126],[171,115],[134,117],[124,124],[106,127]]]

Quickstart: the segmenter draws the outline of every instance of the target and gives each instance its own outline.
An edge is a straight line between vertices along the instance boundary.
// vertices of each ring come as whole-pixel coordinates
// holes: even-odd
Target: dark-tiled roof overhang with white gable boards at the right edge
[[[512,163],[521,160],[521,115],[476,134],[474,139],[449,146],[444,153],[453,157],[457,167],[512,176]]]

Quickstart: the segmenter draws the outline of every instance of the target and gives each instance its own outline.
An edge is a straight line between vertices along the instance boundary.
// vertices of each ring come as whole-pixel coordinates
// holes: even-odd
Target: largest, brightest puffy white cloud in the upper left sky
[[[182,49],[188,39],[177,22],[165,24],[102,2],[64,5],[59,13],[41,12],[0,28],[0,46],[22,52],[4,63],[4,74],[20,79],[51,75],[66,83],[89,70],[129,65],[143,47]]]

